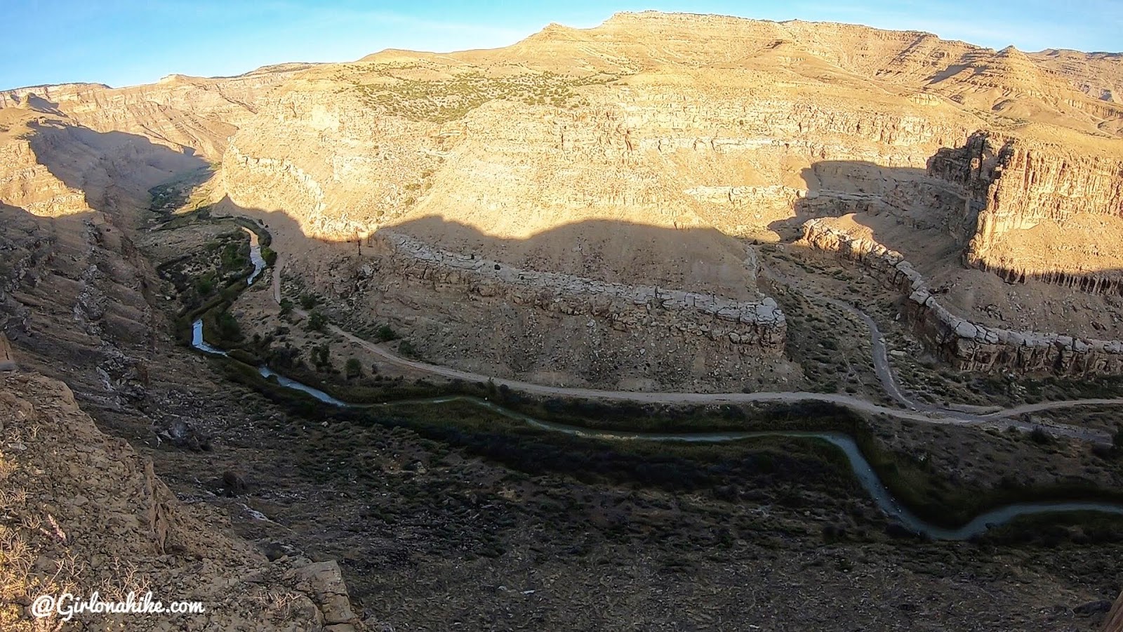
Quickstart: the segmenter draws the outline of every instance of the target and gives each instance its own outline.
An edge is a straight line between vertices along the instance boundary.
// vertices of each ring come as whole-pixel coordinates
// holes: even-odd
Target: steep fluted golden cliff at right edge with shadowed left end
[[[1108,144],[1108,147],[1113,144]],[[1123,145],[1119,153],[976,134],[929,172],[969,192],[966,261],[1017,282],[1123,291]]]

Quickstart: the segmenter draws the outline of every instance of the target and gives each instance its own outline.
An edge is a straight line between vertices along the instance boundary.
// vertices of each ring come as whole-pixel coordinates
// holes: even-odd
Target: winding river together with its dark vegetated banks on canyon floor
[[[256,237],[256,233],[245,227],[243,229]],[[988,523],[1005,523],[1023,514],[1094,508],[1110,513],[1116,511],[1123,513],[1119,506],[1108,504],[1110,502],[1123,500],[1123,494],[1088,485],[1070,484],[1048,488],[998,490],[979,490],[948,485],[946,480],[941,480],[929,469],[923,468],[921,463],[887,450],[876,440],[868,419],[864,415],[829,403],[800,401],[752,407],[732,405],[694,406],[691,408],[657,407],[629,403],[605,404],[560,398],[532,398],[502,385],[496,387],[494,382],[480,385],[454,381],[444,385],[428,382],[409,385],[398,381],[376,387],[359,387],[322,381],[316,372],[293,367],[289,368],[289,376],[279,374],[273,368],[267,369],[264,364],[254,367],[253,364],[261,363],[262,359],[253,352],[252,347],[249,351],[237,349],[227,354],[211,342],[223,345],[230,344],[231,341],[225,340],[222,336],[211,336],[211,342],[208,342],[206,340],[208,336],[203,335],[204,332],[214,331],[219,326],[218,324],[221,323],[222,316],[227,314],[237,294],[250,286],[264,269],[265,262],[259,253],[261,244],[256,242],[258,242],[257,238],[252,238],[250,260],[254,263],[254,270],[245,277],[248,282],[240,287],[237,282],[231,282],[223,290],[221,299],[191,313],[192,315],[201,315],[192,322],[192,345],[208,353],[219,352],[226,355],[223,370],[229,378],[250,386],[266,394],[271,399],[283,403],[305,415],[322,416],[322,410],[319,410],[318,405],[323,403],[346,408],[405,400],[392,406],[390,415],[381,414],[381,412],[376,414],[369,408],[351,413],[368,417],[362,423],[403,425],[421,432],[424,436],[444,441],[449,441],[450,437],[458,439],[462,445],[493,458],[494,454],[489,454],[489,450],[481,450],[478,445],[473,445],[475,439],[465,441],[464,436],[457,436],[458,433],[465,431],[465,425],[462,422],[449,422],[447,415],[437,415],[436,418],[445,421],[435,425],[419,419],[416,412],[424,407],[447,407],[451,404],[448,398],[456,397],[462,403],[466,401],[473,406],[487,408],[490,413],[494,413],[505,421],[514,419],[522,424],[529,424],[539,431],[562,432],[593,441],[619,442],[622,439],[631,439],[661,442],[728,443],[759,440],[769,433],[772,436],[789,436],[791,433],[801,433],[804,435],[803,439],[827,441],[836,449],[841,450],[847,455],[851,471],[857,475],[857,480],[862,482],[865,491],[878,503],[886,515],[900,521],[910,531],[940,539],[977,536],[986,530]],[[300,376],[294,379],[292,372],[300,373]],[[313,380],[318,382],[317,386],[305,383]],[[412,413],[403,412],[403,408],[407,407],[402,404],[407,403]],[[428,417],[432,418],[432,416]],[[746,432],[747,427],[752,428],[752,431]],[[474,428],[474,432],[477,434],[484,432],[487,436],[496,436],[513,428],[499,418],[493,418],[485,430],[484,428]],[[652,435],[651,433],[663,434]],[[619,446],[613,449],[618,450]],[[838,460],[837,455],[834,460]],[[558,459],[548,461],[558,461]],[[1068,504],[1040,504],[1042,500],[1068,502]],[[1072,500],[1087,500],[1092,504],[1072,504]],[[1095,505],[1097,502],[1098,506]]]

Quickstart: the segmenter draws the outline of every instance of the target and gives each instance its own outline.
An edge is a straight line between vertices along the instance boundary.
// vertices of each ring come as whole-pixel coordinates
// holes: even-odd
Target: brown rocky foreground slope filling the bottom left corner
[[[199,614],[79,614],[82,630],[362,628],[335,562],[270,562],[228,525],[181,504],[150,461],[103,435],[62,382],[0,374],[0,628],[42,630],[43,594],[153,593]]]

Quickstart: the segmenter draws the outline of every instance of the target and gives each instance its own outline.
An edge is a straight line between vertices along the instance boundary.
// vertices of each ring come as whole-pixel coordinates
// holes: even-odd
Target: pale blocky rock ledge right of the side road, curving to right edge
[[[915,333],[942,360],[960,369],[1123,373],[1123,341],[1014,332],[971,323],[940,305],[938,295],[901,253],[832,228],[825,220],[812,219],[803,229],[807,245],[861,263],[907,296],[904,314]]]

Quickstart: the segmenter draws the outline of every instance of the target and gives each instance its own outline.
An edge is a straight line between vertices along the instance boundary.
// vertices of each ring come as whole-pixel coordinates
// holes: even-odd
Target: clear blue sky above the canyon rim
[[[917,29],[1001,48],[1123,51],[1123,0],[2,0],[0,89],[177,72],[238,74],[280,62],[350,61],[383,48],[458,51],[518,42],[549,22],[595,26],[658,9]]]

